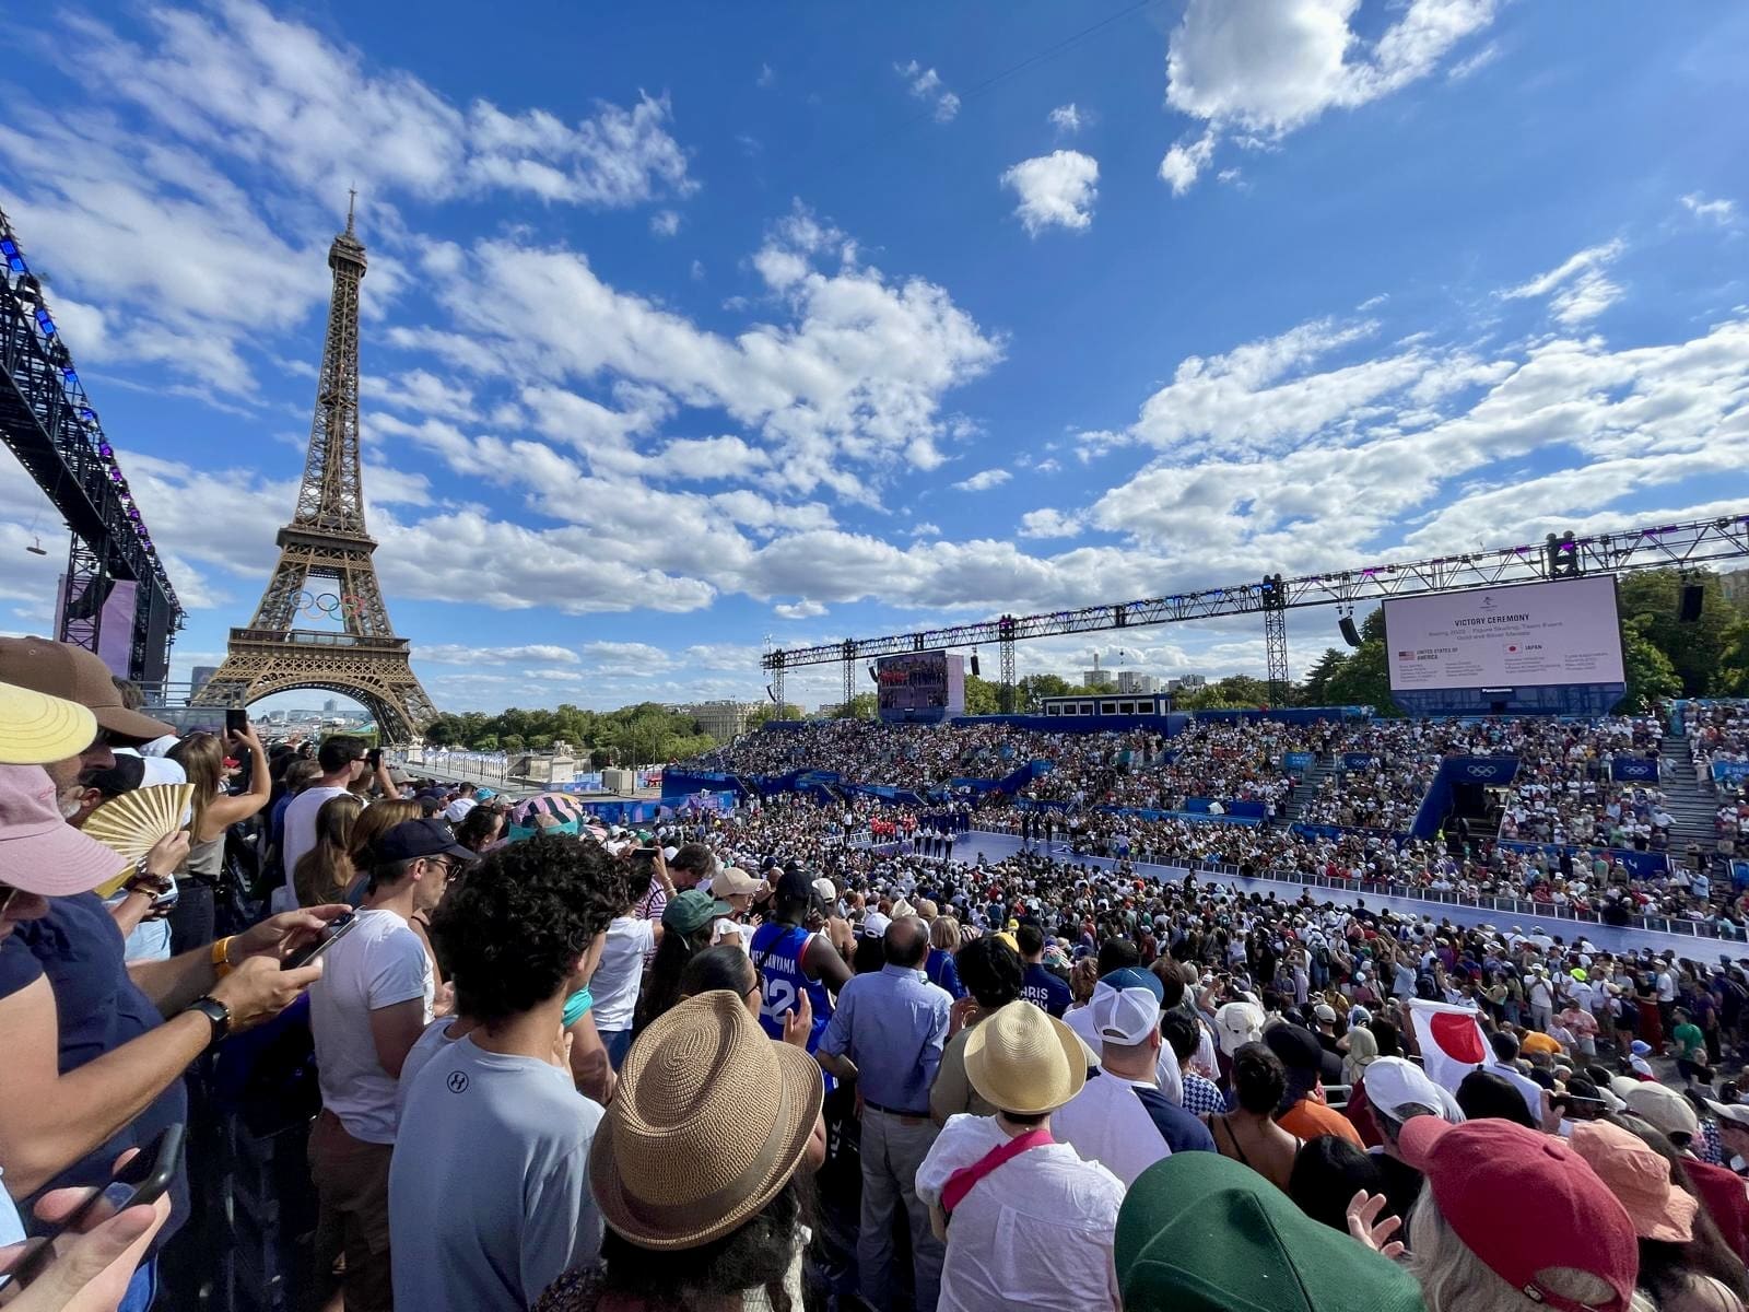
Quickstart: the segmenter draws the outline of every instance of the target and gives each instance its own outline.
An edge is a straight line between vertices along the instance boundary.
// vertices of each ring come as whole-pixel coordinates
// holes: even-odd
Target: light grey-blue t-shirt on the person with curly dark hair
[[[537,1057],[472,1037],[413,1078],[388,1170],[395,1302],[521,1312],[572,1267],[593,1265],[602,1214],[589,1144],[602,1107]]]

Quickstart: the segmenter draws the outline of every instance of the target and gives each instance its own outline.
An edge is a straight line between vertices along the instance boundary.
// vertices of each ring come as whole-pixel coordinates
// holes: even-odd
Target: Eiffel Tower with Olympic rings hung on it
[[[364,703],[383,743],[411,743],[437,714],[395,637],[364,528],[359,469],[359,282],[364,243],[346,231],[329,247],[334,299],[322,346],[310,455],[292,521],[280,530],[280,563],[255,618],[233,628],[224,665],[194,696],[199,707],[240,707],[269,693],[320,687]],[[297,618],[336,618],[343,632],[299,628]]]

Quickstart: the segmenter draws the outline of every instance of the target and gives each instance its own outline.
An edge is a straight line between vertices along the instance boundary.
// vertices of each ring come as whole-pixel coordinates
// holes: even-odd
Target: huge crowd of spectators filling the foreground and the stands
[[[89,653],[0,639],[0,1300],[196,1307],[215,1258],[275,1242],[297,1270],[271,1296],[345,1309],[1744,1312],[1749,957],[1364,899],[1691,913],[1702,868],[1100,810],[1280,803],[1291,750],[1369,750],[1376,778],[1348,773],[1378,815],[1399,771],[1492,735],[1602,756],[1551,733],[829,726],[834,756],[791,768],[868,747],[840,773],[939,784],[1042,756],[1072,792],[626,829],[346,735],[178,738]],[[163,784],[187,808],[140,808],[143,852],[96,841],[121,841],[100,808]],[[1021,850],[986,859],[983,827]],[[1242,892],[1226,866],[1355,890]],[[310,1233],[210,1195],[231,1116],[297,1139],[264,1216],[308,1195]]]

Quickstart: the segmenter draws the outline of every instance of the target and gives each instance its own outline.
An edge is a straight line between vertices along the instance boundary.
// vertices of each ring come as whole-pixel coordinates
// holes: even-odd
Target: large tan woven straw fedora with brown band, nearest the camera
[[[721,1239],[796,1174],[826,1085],[726,990],[689,997],[644,1032],[589,1146],[589,1191],[647,1249]]]

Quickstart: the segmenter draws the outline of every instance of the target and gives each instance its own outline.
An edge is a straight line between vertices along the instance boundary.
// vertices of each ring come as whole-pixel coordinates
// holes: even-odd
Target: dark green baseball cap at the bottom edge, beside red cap
[[[1125,1312],[1425,1312],[1415,1277],[1217,1153],[1137,1176],[1112,1256]]]

